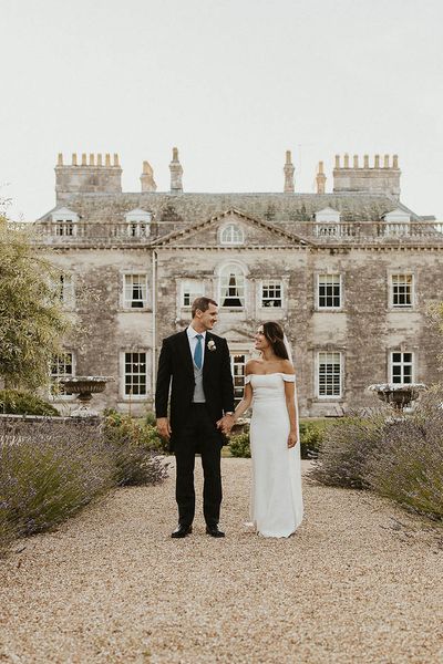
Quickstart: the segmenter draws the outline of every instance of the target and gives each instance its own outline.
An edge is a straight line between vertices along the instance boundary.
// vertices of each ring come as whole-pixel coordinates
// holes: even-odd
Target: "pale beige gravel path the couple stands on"
[[[443,662],[442,531],[305,483],[296,536],[262,539],[244,527],[249,464],[223,459],[224,540],[199,501],[194,533],[171,539],[171,478],[19,542],[0,562],[0,662]]]

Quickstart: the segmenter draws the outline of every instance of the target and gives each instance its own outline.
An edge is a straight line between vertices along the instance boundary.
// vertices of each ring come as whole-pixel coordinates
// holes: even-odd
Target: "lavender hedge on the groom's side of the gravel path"
[[[161,457],[99,423],[0,419],[0,550],[54,528],[119,485],[162,481]]]

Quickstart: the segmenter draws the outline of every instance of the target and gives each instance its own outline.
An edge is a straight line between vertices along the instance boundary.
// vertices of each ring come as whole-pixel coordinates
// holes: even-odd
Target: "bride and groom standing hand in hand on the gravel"
[[[259,360],[246,364],[245,392],[234,409],[229,350],[212,333],[218,305],[197,298],[189,326],[163,341],[158,360],[155,409],[158,433],[169,440],[176,459],[178,527],[173,538],[192,532],[195,513],[195,455],[202,456],[203,511],[206,532],[219,529],[220,452],[224,436],[253,405],[250,518],[264,537],[289,537],[302,519],[300,445],[295,371],[290,349],[278,323],[267,322],[255,335]],[[171,390],[171,416],[168,403]]]

